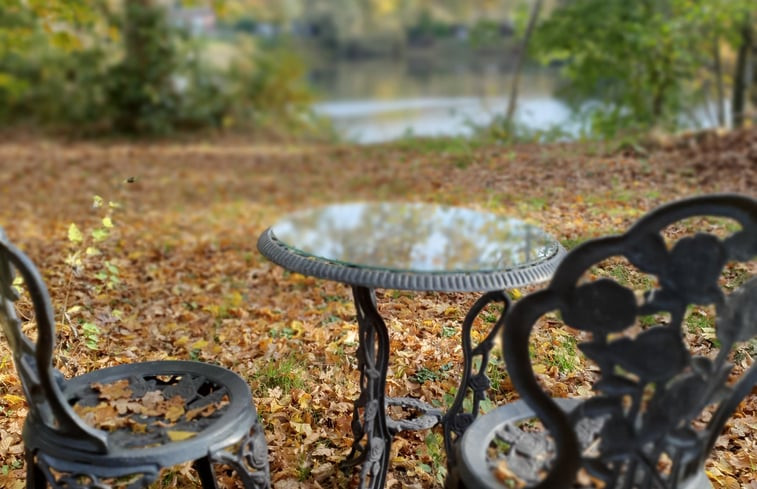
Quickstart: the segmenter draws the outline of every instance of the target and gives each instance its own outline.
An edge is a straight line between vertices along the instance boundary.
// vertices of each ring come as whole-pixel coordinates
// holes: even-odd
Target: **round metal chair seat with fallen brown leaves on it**
[[[28,445],[52,459],[115,472],[140,460],[162,468],[205,457],[241,441],[257,421],[245,381],[201,362],[119,365],[64,381],[61,387],[87,424],[107,431],[107,451],[73,450],[32,417],[25,425]]]

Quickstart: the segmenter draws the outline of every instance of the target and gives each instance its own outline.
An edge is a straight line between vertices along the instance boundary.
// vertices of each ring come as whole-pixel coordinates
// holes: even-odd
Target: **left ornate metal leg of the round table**
[[[362,464],[359,487],[380,489],[386,482],[392,444],[384,390],[389,364],[389,331],[376,309],[376,295],[372,289],[353,286],[352,295],[358,322],[360,397],[355,401],[352,413],[355,441],[342,468]]]

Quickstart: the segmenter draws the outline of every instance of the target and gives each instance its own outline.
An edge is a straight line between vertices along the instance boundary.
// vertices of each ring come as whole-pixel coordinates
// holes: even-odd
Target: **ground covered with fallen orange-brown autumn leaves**
[[[233,140],[19,139],[0,144],[0,170],[0,226],[50,288],[57,367],[65,375],[165,358],[231,368],[256,398],[275,487],[343,487],[348,477],[336,467],[352,441],[358,393],[351,295],[346,286],[290,274],[263,259],[256,240],[268,225],[326,202],[414,200],[521,217],[572,247],[622,231],[674,198],[720,191],[754,196],[757,131],[689,136],[628,153],[569,144],[268,147]],[[102,206],[93,207],[95,195]],[[750,267],[739,272],[754,273]],[[378,298],[391,334],[390,394],[444,404],[459,375],[455,328],[475,294],[379,291]],[[542,326],[535,341],[542,380],[557,395],[585,392],[590,372],[571,347],[572,333],[556,322]],[[711,347],[706,330],[693,336],[700,347]],[[753,354],[747,352],[744,366]],[[494,362],[493,401],[501,403],[515,394]],[[716,487],[753,487],[755,397],[740,406],[708,466]],[[2,340],[0,487],[23,485],[26,413]],[[387,486],[441,487],[442,447],[438,429],[400,434]],[[199,482],[179,468],[160,483],[174,486]]]

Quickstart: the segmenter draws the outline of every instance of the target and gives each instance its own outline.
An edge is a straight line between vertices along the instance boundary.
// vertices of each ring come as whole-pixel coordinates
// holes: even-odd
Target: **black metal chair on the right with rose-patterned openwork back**
[[[671,224],[676,233],[695,225],[681,222],[694,216],[728,218],[721,227],[732,234],[688,233],[674,243],[662,237]],[[610,257],[625,258],[648,290],[591,276]],[[748,280],[730,292],[733,278],[724,280],[723,271],[755,257],[757,200],[739,195],[674,202],[623,235],[576,247],[546,289],[506,313],[504,358],[521,400],[473,422],[458,440],[448,486],[711,487],[705,461],[757,384],[757,365],[739,376],[729,361],[737,345],[757,336],[754,268],[736,265]],[[717,356],[690,351],[684,328],[692,306],[714,307]],[[553,399],[537,382],[529,338],[551,311],[586,339],[579,348],[597,367],[593,397]]]

